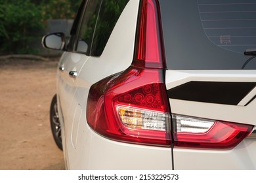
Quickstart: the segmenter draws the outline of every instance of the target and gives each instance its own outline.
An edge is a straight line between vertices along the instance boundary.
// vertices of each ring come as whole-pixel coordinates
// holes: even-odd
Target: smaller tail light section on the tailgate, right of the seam
[[[253,125],[206,120],[172,114],[175,146],[185,148],[230,149],[239,144]]]

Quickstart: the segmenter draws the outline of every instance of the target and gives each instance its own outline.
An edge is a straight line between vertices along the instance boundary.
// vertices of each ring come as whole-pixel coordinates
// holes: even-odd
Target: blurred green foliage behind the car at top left
[[[74,19],[81,0],[0,0],[0,55],[36,54],[50,19]]]

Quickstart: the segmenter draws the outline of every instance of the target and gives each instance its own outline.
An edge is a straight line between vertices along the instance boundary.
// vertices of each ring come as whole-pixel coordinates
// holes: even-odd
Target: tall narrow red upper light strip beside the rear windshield
[[[160,14],[154,0],[141,1],[137,44],[133,65],[144,68],[165,68]]]

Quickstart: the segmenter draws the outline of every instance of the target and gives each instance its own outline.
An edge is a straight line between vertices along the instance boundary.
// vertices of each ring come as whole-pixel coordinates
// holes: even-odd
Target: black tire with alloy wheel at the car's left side
[[[58,107],[57,107],[57,95],[53,96],[50,108],[50,122],[51,122],[51,131],[53,133],[53,139],[62,150],[62,138],[61,138],[61,128],[60,128],[60,119],[58,116]]]

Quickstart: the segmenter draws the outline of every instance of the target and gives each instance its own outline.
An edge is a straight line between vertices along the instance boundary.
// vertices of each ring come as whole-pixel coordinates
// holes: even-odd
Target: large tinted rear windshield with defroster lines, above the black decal
[[[255,69],[256,0],[160,1],[168,69]]]

